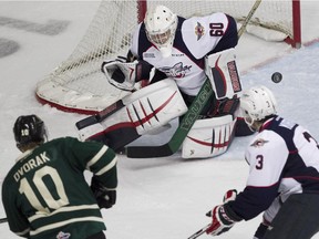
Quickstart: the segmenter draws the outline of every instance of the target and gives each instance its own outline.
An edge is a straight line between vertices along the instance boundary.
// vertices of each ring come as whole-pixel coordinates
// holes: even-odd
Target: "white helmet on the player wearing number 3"
[[[255,121],[261,121],[275,115],[277,102],[272,92],[266,86],[247,90],[240,97],[240,110],[245,122],[251,126]]]

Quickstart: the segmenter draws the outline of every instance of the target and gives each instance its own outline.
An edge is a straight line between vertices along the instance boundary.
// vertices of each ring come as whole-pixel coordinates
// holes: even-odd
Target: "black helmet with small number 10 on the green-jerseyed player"
[[[19,116],[13,126],[17,147],[25,150],[47,141],[47,129],[43,121],[37,115]]]

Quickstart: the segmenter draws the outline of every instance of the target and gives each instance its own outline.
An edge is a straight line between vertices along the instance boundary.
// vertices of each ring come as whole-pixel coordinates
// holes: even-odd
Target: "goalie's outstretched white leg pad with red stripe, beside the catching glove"
[[[110,147],[120,148],[141,135],[154,133],[154,129],[187,112],[182,94],[172,79],[143,87],[122,101],[125,102],[125,107],[101,123],[81,129],[81,138],[102,141]]]

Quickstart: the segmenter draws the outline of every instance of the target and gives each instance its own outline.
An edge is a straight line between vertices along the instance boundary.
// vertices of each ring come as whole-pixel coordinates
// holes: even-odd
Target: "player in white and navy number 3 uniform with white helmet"
[[[319,231],[319,145],[302,126],[277,115],[274,94],[265,86],[243,93],[240,110],[258,134],[245,153],[250,165],[245,189],[229,190],[209,216],[212,236],[264,212],[255,239],[310,239]]]

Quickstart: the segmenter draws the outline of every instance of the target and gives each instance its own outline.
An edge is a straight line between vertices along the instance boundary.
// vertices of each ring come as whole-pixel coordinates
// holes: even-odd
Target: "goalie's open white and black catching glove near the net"
[[[126,62],[123,56],[102,63],[102,72],[110,84],[123,91],[132,91],[136,82],[148,79],[151,69],[145,61]]]

